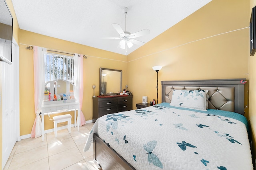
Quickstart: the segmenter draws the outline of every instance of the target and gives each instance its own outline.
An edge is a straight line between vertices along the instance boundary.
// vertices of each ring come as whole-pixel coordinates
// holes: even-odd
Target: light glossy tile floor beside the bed
[[[16,142],[4,170],[96,170],[93,162],[93,144],[87,152],[84,145],[93,123],[47,133],[38,138]]]

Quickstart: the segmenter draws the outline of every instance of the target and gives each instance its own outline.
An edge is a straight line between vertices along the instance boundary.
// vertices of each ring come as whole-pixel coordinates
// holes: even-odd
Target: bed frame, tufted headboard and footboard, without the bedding
[[[244,84],[241,79],[161,81],[162,102],[171,102],[176,90],[209,90],[209,109],[221,109],[244,115]],[[94,134],[94,161],[102,170],[135,170],[122,156]]]

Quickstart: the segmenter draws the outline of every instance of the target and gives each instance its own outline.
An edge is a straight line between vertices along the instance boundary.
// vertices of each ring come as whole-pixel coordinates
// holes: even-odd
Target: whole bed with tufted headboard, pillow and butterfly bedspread
[[[84,151],[103,170],[252,170],[240,81],[161,81],[161,104],[100,117]]]

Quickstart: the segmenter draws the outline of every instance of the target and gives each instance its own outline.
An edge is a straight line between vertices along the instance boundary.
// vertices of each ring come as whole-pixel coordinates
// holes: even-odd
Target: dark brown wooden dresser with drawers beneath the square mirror
[[[118,95],[115,97],[96,97],[92,98],[92,122],[106,114],[116,113],[120,111],[132,110],[132,95],[122,96]]]

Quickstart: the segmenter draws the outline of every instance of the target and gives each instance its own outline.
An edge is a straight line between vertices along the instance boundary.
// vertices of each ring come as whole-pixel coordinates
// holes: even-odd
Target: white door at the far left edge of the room
[[[19,47],[12,43],[12,64],[2,65],[2,169],[20,140],[19,109]],[[1,80],[0,80],[1,81]]]

